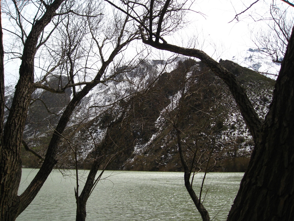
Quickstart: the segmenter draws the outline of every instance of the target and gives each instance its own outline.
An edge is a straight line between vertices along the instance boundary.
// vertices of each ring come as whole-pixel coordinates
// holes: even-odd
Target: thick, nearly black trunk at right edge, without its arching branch
[[[294,220],[294,29],[230,221]]]

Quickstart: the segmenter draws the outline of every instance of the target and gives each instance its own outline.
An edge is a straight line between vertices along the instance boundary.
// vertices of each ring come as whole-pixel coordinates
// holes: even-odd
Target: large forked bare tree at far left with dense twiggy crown
[[[118,59],[118,63],[113,64],[114,58],[138,38],[137,27],[133,26],[128,15],[113,13],[113,20],[107,17],[109,22],[101,23],[103,14],[100,8],[96,1],[80,4],[66,0],[4,2],[4,12],[14,28],[3,30],[16,40],[15,44],[7,47],[7,54],[11,56],[9,59],[20,58],[21,66],[1,136],[1,220],[15,220],[34,199],[57,163],[57,148],[74,109],[96,85],[113,80],[118,72],[108,71],[108,67],[119,65],[122,60]],[[56,47],[56,43],[60,46]],[[34,81],[35,74],[37,81]],[[64,81],[62,75],[67,76],[67,81]],[[1,77],[4,77],[4,73]],[[49,77],[58,79],[57,87],[50,87]],[[29,187],[18,196],[24,126],[31,95],[36,88],[52,93],[64,93],[66,88],[71,88],[73,95],[61,112],[39,172]],[[4,91],[1,92],[3,95]]]

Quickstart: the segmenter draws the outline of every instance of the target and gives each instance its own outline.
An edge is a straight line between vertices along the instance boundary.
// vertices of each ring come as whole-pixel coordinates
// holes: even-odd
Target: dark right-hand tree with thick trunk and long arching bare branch
[[[255,142],[249,167],[228,220],[293,220],[294,137],[290,131],[294,129],[294,31],[281,64],[270,110],[265,121],[261,122],[246,91],[232,72],[201,50],[168,44],[163,39],[161,33],[164,32],[161,29],[168,24],[169,12],[174,9],[174,2],[167,0],[158,4],[161,5],[158,6],[160,9],[154,10],[154,1],[146,2],[144,5],[148,7],[141,17],[130,14],[140,26],[143,43],[161,50],[196,57],[211,68],[228,85]],[[122,7],[116,8],[125,12]],[[140,19],[142,17],[145,20]],[[158,18],[158,22],[154,22],[154,17]]]

